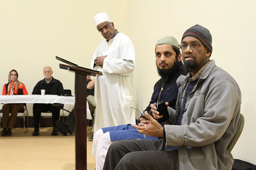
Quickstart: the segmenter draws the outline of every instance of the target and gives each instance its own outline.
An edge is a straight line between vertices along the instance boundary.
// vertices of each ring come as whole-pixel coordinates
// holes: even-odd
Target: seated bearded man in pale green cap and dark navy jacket
[[[175,108],[178,95],[176,80],[180,75],[187,75],[187,71],[184,69],[182,62],[180,61],[181,54],[178,45],[178,41],[173,36],[163,37],[155,44],[156,65],[161,79],[155,83],[154,92],[149,105],[144,111],[145,113],[150,113],[150,105],[152,103],[161,100],[168,102],[170,107]],[[159,96],[160,92],[161,95]],[[143,123],[147,123],[148,120],[141,118],[141,121]],[[143,134],[138,133],[137,129],[132,127],[131,124],[106,127],[98,130],[94,135],[95,145],[97,145],[96,170],[102,170],[108,147],[114,141],[130,139],[159,139],[158,137],[149,137],[148,135],[145,137]]]

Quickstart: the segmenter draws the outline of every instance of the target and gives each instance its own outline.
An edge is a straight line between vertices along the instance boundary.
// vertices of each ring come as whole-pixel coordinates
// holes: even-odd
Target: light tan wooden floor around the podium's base
[[[0,136],[0,170],[75,170],[74,133],[52,136],[52,127],[43,127],[39,136],[32,136],[33,131],[14,128],[13,135]],[[91,149],[87,140],[87,170],[95,170]]]

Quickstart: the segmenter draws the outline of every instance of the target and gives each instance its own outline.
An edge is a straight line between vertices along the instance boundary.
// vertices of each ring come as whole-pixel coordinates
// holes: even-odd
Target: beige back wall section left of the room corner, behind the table
[[[115,4],[107,5],[109,11],[104,1],[0,0],[0,84],[6,84],[10,70],[16,69],[31,94],[44,78],[43,67],[49,65],[53,77],[74,94],[74,73],[59,69],[55,56],[90,68],[94,50],[104,39],[93,21],[100,12],[108,12],[115,26],[127,32],[126,1],[108,3]],[[64,107],[71,110],[73,105]],[[32,104],[28,108],[32,115]]]

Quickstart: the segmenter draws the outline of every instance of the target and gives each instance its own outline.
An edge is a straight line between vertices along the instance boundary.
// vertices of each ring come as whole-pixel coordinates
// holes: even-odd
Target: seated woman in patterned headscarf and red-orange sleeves
[[[2,95],[28,95],[25,85],[18,80],[18,72],[16,70],[11,70],[8,75],[8,83],[4,84]],[[3,131],[1,136],[10,136],[11,129],[14,127],[15,120],[17,118],[18,111],[24,108],[24,104],[17,103],[3,105]],[[11,113],[11,116],[9,116]],[[7,129],[8,128],[8,129]]]

